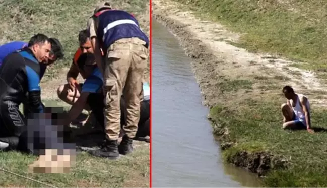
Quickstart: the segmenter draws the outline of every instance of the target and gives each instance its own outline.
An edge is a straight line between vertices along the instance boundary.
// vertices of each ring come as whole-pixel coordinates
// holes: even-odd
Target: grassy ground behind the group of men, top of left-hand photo
[[[28,41],[33,34],[43,33],[56,37],[64,48],[65,57],[48,69],[45,79],[60,77],[60,68],[69,68],[78,48],[78,32],[86,29],[87,19],[99,1],[92,0],[8,0],[0,6],[0,43],[12,40]],[[149,1],[113,1],[114,7],[133,13],[149,36]],[[149,68],[148,68],[149,69]],[[147,70],[148,71],[148,70]],[[66,73],[64,73],[66,74]]]

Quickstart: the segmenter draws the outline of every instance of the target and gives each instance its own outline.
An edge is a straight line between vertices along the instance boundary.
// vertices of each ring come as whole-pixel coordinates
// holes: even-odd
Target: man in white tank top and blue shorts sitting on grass
[[[285,86],[283,93],[287,98],[287,103],[282,104],[283,129],[306,129],[309,133],[314,133],[311,129],[310,103],[303,94],[295,93],[293,88]]]

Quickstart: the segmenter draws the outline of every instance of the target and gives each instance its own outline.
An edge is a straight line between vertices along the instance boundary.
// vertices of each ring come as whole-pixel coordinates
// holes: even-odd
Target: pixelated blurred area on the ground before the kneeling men
[[[76,145],[67,134],[69,127],[62,124],[66,115],[62,107],[46,107],[28,118],[27,149],[39,155],[29,173],[69,173],[75,166]]]

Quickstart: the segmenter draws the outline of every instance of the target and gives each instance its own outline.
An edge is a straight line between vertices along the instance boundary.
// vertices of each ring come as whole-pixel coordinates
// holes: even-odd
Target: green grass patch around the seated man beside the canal
[[[237,88],[230,82],[225,84]],[[269,86],[268,82],[261,84]],[[235,90],[223,92],[226,97],[210,110],[214,133],[222,141],[233,143],[223,152],[225,161],[233,162],[242,151],[264,152],[288,161],[286,168],[268,172],[264,179],[266,186],[327,187],[327,180],[321,175],[327,173],[327,132],[322,130],[311,135],[305,130],[282,130],[280,105],[285,99],[278,90],[270,89],[265,95],[249,93],[242,99],[233,97],[232,91]],[[311,119],[314,129],[327,130],[327,110],[313,108]]]

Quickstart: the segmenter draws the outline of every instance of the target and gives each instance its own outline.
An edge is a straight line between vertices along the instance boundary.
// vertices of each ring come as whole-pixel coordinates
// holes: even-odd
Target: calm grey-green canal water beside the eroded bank
[[[254,174],[224,164],[200,88],[177,39],[152,22],[152,186],[260,187]]]

